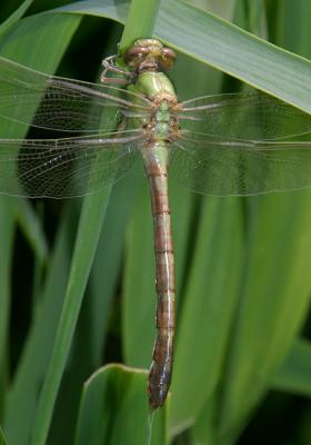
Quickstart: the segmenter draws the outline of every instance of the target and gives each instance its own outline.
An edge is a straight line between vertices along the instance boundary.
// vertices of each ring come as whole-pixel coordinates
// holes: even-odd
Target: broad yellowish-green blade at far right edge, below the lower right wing
[[[243,288],[219,411],[224,443],[267,390],[304,320],[311,289],[310,198],[301,191],[250,200]]]

